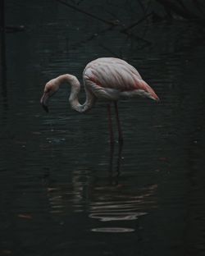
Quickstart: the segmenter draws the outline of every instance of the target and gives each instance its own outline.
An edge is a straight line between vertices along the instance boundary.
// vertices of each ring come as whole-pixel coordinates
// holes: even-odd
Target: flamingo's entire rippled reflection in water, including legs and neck
[[[113,163],[114,148],[112,149],[107,163]],[[135,221],[148,214],[151,209],[157,208],[157,185],[134,189],[123,184],[123,177],[120,175],[121,152],[122,145],[119,144],[116,176],[113,173],[113,164],[109,164],[107,170],[103,170],[106,174],[103,178],[93,176],[89,170],[78,170],[73,171],[70,185],[48,186],[50,213],[64,215],[71,208],[74,213],[86,213],[88,217],[100,222],[112,222],[111,227],[92,227],[91,231],[134,231],[133,228],[125,227],[125,221]],[[117,226],[113,226],[114,222],[117,222]],[[119,227],[121,222],[123,227]]]

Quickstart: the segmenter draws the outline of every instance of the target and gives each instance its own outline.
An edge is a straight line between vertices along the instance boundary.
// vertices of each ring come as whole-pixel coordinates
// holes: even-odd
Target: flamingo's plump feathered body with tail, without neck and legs
[[[102,57],[89,62],[84,68],[83,79],[85,88],[97,98],[111,101],[135,96],[158,99],[139,72],[118,58]]]

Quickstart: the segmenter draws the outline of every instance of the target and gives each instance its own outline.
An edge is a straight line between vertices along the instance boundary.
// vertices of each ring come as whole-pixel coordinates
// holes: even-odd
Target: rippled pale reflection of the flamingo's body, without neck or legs
[[[89,217],[102,222],[135,220],[147,214],[144,212],[146,206],[149,209],[157,207],[154,201],[156,189],[157,185],[152,185],[132,194],[121,186],[115,189],[109,189],[107,186],[96,187],[89,207]]]

